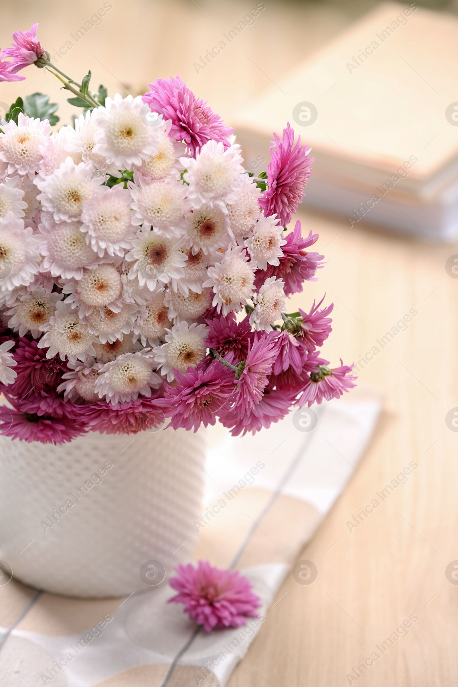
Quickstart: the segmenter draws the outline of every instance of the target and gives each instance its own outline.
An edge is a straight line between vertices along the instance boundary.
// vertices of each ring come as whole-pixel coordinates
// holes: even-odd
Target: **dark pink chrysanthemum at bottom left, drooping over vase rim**
[[[0,433],[30,443],[64,444],[84,434],[86,428],[75,418],[39,416],[36,413],[0,407]]]

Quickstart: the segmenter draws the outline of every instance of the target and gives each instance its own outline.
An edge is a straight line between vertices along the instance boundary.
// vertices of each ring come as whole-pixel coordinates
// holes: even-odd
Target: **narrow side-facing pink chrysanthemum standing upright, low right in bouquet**
[[[250,342],[243,371],[235,380],[233,407],[240,417],[251,412],[256,403],[260,403],[276,355],[275,341],[268,335],[262,336],[256,333],[253,343]]]

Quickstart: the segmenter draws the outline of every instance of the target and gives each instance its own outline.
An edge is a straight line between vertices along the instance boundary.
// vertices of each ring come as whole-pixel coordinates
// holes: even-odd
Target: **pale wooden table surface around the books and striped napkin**
[[[0,45],[16,28],[40,21],[51,52],[104,3],[59,0],[3,4]],[[144,93],[148,80],[180,74],[228,122],[248,98],[285,78],[310,52],[358,19],[368,3],[273,3],[218,60],[196,74],[193,63],[257,5],[240,1],[111,0],[101,25],[68,50],[61,69],[81,77],[91,67],[108,91]],[[356,11],[357,10],[357,11]],[[230,49],[229,49],[230,48]],[[30,67],[27,81],[0,86],[10,102],[36,90],[60,101],[56,80]],[[33,80],[33,82],[32,82]],[[1,107],[1,104],[0,104]],[[68,122],[70,106],[61,109]],[[367,455],[312,543],[301,554],[319,568],[310,586],[289,576],[230,687],[334,687],[349,684],[354,666],[376,651],[367,687],[451,687],[458,684],[458,585],[446,566],[458,559],[457,442],[446,413],[458,406],[458,282],[445,269],[457,245],[415,243],[325,214],[299,212],[319,232],[328,264],[297,304],[328,292],[334,331],[323,352],[333,363],[380,352],[360,381],[385,395],[385,412]],[[411,311],[407,329],[387,346],[377,339]],[[358,527],[348,521],[404,466],[417,464]],[[287,592],[285,594],[285,592]],[[376,645],[416,616],[406,636],[385,653]],[[400,631],[404,634],[404,631]],[[398,634],[400,634],[398,633]],[[370,663],[370,661],[369,661]]]

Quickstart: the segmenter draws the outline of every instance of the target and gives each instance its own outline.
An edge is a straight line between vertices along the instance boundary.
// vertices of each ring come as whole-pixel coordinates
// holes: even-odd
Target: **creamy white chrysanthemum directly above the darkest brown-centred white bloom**
[[[129,183],[132,207],[136,211],[132,223],[167,238],[181,236],[186,231],[185,214],[190,210],[186,187],[181,181],[154,181],[148,183],[135,174],[138,185]]]

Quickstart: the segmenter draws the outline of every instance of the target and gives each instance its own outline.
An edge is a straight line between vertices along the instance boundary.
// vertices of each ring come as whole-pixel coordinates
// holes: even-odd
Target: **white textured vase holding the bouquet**
[[[0,560],[54,594],[151,589],[160,565],[170,575],[196,545],[203,444],[171,428],[61,446],[0,437]]]

